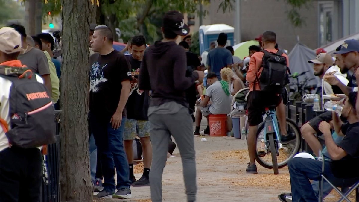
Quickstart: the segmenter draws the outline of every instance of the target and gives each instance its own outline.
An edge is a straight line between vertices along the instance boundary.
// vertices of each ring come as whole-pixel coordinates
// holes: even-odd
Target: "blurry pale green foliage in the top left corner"
[[[8,20],[24,19],[24,6],[14,0],[0,0],[0,27],[8,24]]]

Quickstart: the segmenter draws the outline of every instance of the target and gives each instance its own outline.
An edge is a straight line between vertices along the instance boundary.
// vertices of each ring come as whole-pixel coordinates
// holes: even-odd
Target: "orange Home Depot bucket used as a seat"
[[[227,114],[211,114],[209,115],[210,136],[222,137],[227,136]]]

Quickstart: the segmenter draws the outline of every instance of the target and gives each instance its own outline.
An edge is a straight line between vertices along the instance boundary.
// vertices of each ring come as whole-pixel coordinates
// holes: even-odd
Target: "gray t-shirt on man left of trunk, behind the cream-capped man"
[[[21,64],[26,65],[33,73],[39,75],[50,74],[46,55],[39,49],[31,48],[29,52],[20,54],[18,60],[21,61]]]

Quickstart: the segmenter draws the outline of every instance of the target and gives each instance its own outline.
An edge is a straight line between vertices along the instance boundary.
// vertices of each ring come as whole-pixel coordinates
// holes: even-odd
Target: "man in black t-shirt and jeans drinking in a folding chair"
[[[345,135],[340,143],[334,142],[330,124],[322,121],[319,126],[325,137],[330,158],[333,160],[325,162],[323,172],[322,162],[318,160],[293,158],[288,163],[293,201],[318,201],[309,180],[321,180],[321,173],[327,178],[354,178],[359,175],[359,118],[355,110],[356,99],[357,93],[352,92],[344,101],[341,118],[347,119],[348,123],[337,129]]]

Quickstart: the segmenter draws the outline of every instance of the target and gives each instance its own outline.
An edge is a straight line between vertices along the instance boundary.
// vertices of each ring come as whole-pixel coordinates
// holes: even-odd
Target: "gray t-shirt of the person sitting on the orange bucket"
[[[211,98],[209,111],[211,114],[229,114],[230,96],[225,94],[222,84],[219,81],[214,82],[206,89],[206,96]]]

